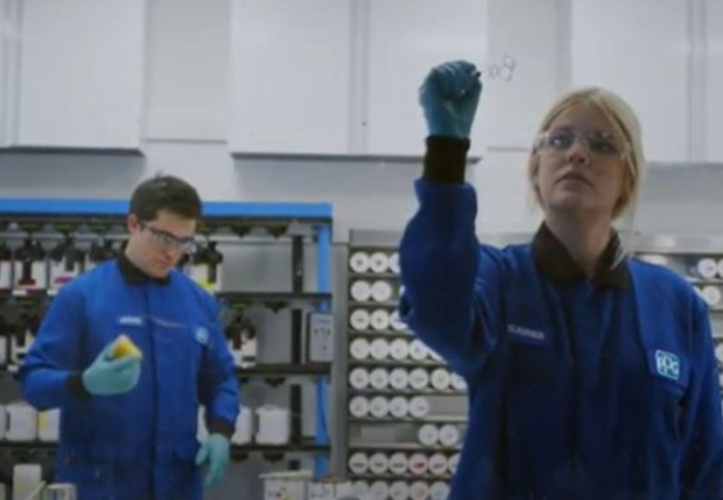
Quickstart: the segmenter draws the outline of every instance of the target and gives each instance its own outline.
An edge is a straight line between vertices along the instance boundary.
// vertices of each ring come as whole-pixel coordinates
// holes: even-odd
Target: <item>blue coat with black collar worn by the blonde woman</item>
[[[469,184],[416,193],[400,310],[469,388],[449,500],[723,498],[709,311],[689,283],[614,266],[616,238],[587,279],[544,224],[532,244],[481,246]]]

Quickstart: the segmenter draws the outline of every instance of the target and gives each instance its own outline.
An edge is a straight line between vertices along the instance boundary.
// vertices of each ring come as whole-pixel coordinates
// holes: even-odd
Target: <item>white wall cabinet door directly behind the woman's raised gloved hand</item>
[[[454,3],[454,7],[450,4]],[[486,62],[486,0],[368,2],[366,150],[420,156],[427,134],[418,89],[447,60]],[[481,137],[481,127],[473,131]],[[473,153],[481,141],[473,138]]]

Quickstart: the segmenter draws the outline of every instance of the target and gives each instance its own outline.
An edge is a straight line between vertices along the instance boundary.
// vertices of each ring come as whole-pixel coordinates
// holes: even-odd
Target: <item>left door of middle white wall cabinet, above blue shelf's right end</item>
[[[349,150],[351,0],[234,0],[234,153]]]

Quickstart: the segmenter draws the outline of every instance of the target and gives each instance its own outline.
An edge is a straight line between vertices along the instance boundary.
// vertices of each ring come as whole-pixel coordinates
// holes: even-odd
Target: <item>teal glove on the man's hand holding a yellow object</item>
[[[111,359],[108,344],[82,372],[82,384],[93,396],[115,396],[130,391],[140,378],[140,360],[133,357]]]

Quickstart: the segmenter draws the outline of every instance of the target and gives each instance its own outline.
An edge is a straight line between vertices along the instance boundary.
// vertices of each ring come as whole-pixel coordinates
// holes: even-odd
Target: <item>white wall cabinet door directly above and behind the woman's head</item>
[[[689,158],[691,41],[680,0],[574,0],[572,77],[628,100],[648,160]]]

